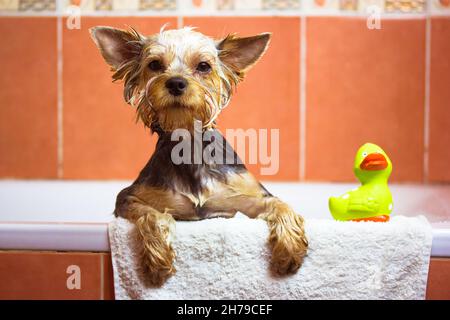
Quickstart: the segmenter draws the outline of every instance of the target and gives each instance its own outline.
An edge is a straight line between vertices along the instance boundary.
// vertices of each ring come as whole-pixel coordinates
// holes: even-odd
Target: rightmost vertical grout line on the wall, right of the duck
[[[431,64],[431,19],[425,20],[425,93],[424,93],[424,131],[423,131],[423,180],[429,180],[430,147],[430,64]]]

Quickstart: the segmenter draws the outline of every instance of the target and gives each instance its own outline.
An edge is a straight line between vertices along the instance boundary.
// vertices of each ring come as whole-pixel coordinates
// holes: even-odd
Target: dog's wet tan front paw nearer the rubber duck
[[[288,211],[273,215],[268,222],[272,270],[279,275],[295,273],[302,265],[308,249],[303,219]]]

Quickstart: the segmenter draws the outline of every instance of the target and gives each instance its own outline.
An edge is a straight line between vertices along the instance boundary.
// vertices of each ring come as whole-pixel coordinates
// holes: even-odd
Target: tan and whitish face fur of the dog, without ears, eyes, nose
[[[214,126],[232,89],[222,71],[215,42],[190,28],[168,30],[152,36],[143,52],[145,65],[157,60],[164,68],[160,72],[147,70],[143,75],[148,80],[145,88],[141,85],[138,89],[143,91],[138,110],[144,123],[156,121],[165,131],[192,130],[194,120],[200,120],[205,128]],[[211,72],[198,72],[196,68],[200,62],[207,62],[212,67]],[[171,77],[182,77],[187,81],[183,95],[168,94],[165,82]]]

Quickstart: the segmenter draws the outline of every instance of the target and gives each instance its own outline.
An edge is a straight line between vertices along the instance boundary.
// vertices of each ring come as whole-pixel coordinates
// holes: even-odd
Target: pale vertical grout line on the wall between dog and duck
[[[305,180],[306,170],[306,17],[300,18],[300,181]]]

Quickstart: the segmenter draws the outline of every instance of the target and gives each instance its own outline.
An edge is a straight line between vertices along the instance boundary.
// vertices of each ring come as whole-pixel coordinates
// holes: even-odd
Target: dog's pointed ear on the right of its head
[[[262,57],[271,37],[271,33],[244,38],[230,34],[217,44],[219,58],[238,75],[243,75]]]

